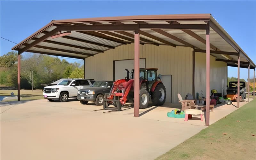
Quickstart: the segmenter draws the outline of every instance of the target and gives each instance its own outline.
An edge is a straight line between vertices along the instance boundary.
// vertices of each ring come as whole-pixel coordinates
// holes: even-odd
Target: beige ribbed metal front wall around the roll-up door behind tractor
[[[95,80],[113,80],[113,60],[134,58],[134,44],[86,58],[85,77]],[[158,68],[158,74],[172,75],[172,103],[178,102],[177,93],[185,98],[192,94],[192,49],[165,45],[140,45],[140,58],[146,58],[146,68]],[[125,71],[124,71],[125,72]]]

